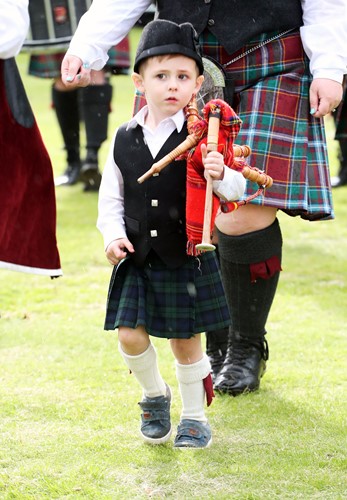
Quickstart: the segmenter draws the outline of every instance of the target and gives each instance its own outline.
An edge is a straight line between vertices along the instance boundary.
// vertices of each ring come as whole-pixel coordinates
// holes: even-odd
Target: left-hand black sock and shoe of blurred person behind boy
[[[71,186],[78,182],[81,170],[78,90],[61,91],[53,86],[52,102],[67,152],[67,167],[54,184]]]

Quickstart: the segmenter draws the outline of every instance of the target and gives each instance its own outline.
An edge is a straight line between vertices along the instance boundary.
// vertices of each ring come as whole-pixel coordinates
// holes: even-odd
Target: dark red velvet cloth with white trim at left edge
[[[61,276],[50,158],[15,60],[0,60],[0,268]]]

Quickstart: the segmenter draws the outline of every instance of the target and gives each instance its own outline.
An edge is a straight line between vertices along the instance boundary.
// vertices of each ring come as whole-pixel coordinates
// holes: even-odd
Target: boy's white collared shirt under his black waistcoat
[[[127,129],[135,128],[137,125],[142,127],[145,142],[151,155],[155,158],[172,132],[175,129],[178,132],[182,130],[185,117],[182,110],[178,111],[175,115],[161,121],[155,131],[153,131],[145,125],[147,112],[148,108],[145,106],[130,120]],[[116,134],[117,132],[112,140],[99,190],[97,228],[104,238],[105,248],[108,247],[111,241],[126,237],[123,218],[123,177],[113,157]],[[246,180],[243,175],[227,167],[224,167],[223,180],[213,181],[214,192],[227,201],[239,199],[245,191],[245,186]]]

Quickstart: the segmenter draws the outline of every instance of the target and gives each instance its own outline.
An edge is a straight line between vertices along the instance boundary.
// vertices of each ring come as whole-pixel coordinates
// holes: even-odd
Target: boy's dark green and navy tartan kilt
[[[128,257],[114,268],[107,299],[105,330],[136,328],[161,338],[190,338],[207,330],[229,327],[215,252],[189,257],[168,269],[155,256],[141,268]]]

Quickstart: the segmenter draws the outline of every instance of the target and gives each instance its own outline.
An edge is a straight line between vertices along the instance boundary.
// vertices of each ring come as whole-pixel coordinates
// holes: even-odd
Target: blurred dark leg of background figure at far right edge
[[[340,187],[347,185],[347,78],[344,81],[344,94],[340,106],[333,114],[336,131],[335,140],[339,141],[340,168],[336,177],[332,177],[331,186]]]

